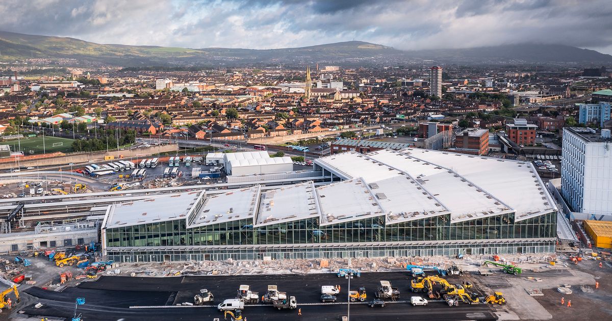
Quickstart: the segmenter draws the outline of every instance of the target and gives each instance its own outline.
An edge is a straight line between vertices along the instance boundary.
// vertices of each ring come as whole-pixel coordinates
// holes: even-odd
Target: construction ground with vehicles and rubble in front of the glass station
[[[553,255],[121,264],[99,249],[2,256],[2,319],[610,319],[610,254],[565,242]]]

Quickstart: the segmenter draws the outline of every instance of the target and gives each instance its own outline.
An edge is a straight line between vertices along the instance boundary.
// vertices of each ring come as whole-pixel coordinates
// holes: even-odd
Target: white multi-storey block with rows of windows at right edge
[[[581,218],[612,221],[610,130],[564,128],[561,195]]]

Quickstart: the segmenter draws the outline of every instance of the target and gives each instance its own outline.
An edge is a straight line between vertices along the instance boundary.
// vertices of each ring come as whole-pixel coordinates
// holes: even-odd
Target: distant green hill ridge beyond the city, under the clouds
[[[349,41],[267,50],[241,48],[177,48],[86,42],[69,37],[0,31],[0,61],[28,58],[73,58],[120,66],[304,64],[311,62],[366,65],[408,61],[458,64],[608,64],[612,56],[567,45],[502,45],[468,49],[402,51],[375,43]]]

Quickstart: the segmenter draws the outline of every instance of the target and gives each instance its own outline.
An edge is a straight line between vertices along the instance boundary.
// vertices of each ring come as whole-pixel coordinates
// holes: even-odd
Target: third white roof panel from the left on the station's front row
[[[261,193],[255,227],[319,218],[313,182],[290,185]]]

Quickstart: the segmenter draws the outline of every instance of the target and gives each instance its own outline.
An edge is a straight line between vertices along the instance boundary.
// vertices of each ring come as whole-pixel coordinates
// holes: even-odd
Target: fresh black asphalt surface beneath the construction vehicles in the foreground
[[[406,273],[362,273],[351,280],[351,289],[365,286],[368,300],[373,299],[380,280],[390,281],[401,292],[400,300],[389,301],[384,308],[370,308],[357,302],[350,304],[351,320],[497,320],[487,304],[461,304],[450,308],[441,300],[430,301],[428,306],[413,307],[408,303],[414,293],[409,291]],[[461,279],[449,279],[460,282]],[[340,320],[346,315],[348,305],[340,302],[346,296],[347,282],[334,273],[312,275],[241,275],[241,276],[177,276],[171,278],[138,278],[102,276],[95,282],[82,282],[62,292],[32,287],[25,290],[37,297],[34,302],[45,304],[36,309],[33,305],[23,308],[26,314],[46,317],[72,317],[75,298],[84,297],[86,303],[78,307],[84,320],[223,320],[216,304],[234,298],[241,284],[248,284],[259,296],[264,295],[269,284],[276,284],[280,291],[297,298],[297,310],[281,310],[267,304],[247,305],[243,315],[247,320]],[[340,285],[341,293],[335,303],[321,303],[321,286]],[[208,289],[215,295],[214,305],[176,306],[193,303],[193,296],[200,289]]]

